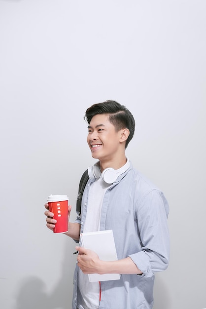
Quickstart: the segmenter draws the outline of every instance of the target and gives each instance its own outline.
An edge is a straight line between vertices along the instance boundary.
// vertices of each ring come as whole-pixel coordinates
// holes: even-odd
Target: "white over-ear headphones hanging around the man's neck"
[[[102,172],[102,179],[107,184],[113,184],[119,175],[123,174],[130,167],[130,161],[127,159],[125,165],[119,169],[113,169],[112,167],[105,168]],[[101,176],[100,162],[98,161],[92,166],[88,167],[88,175],[92,180],[99,179]]]

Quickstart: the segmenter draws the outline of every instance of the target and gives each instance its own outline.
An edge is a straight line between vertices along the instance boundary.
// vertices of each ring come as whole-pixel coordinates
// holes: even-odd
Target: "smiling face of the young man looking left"
[[[93,158],[101,162],[109,162],[118,155],[121,130],[116,132],[106,114],[92,117],[88,126],[87,143]]]

